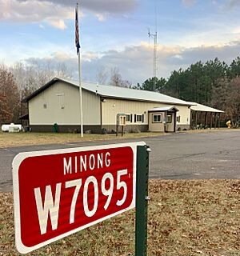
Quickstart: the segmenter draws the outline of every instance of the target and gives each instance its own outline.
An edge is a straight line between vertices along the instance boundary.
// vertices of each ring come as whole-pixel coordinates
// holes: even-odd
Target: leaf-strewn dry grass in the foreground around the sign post
[[[148,255],[240,255],[240,181],[150,181]],[[14,249],[12,194],[0,194],[0,255]],[[30,255],[134,255],[134,210]]]

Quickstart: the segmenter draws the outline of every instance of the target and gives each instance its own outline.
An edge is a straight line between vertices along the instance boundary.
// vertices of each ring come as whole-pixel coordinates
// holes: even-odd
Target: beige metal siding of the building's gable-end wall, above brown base
[[[84,125],[100,125],[100,97],[82,90]],[[56,82],[29,102],[30,125],[79,125],[79,90]]]

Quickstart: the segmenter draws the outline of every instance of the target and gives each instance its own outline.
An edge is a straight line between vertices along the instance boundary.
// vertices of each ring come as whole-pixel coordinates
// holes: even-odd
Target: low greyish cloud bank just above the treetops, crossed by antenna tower
[[[229,63],[237,58],[240,52],[240,42],[231,42],[222,46],[159,46],[158,47],[158,77],[168,78],[170,73],[180,68],[186,69],[192,63],[219,58]],[[73,70],[75,78],[78,78],[78,58],[62,52],[55,52],[46,58],[28,58],[26,62],[39,62],[43,66],[49,60],[58,66],[64,63],[70,70]],[[123,79],[133,84],[142,83],[153,76],[153,49],[148,43],[142,42],[138,46],[126,46],[122,50],[107,50],[106,52],[82,53],[82,78],[85,81],[96,82],[98,70],[110,72],[117,67]]]

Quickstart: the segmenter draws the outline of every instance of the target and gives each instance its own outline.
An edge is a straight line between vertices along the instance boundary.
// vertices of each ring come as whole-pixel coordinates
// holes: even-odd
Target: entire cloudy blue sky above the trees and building
[[[74,7],[66,0],[0,0],[0,61],[65,63],[74,74]],[[158,30],[158,77],[191,63],[218,57],[230,63],[240,50],[238,0],[82,0],[82,78],[96,82],[99,70],[117,68],[123,79],[153,75],[153,39]]]

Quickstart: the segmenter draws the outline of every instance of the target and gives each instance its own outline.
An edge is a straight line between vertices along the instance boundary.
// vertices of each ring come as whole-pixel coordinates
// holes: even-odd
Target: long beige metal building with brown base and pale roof
[[[25,99],[33,131],[80,131],[78,82],[54,78]],[[118,114],[128,132],[190,129],[190,106],[165,94],[82,82],[83,130],[114,132]]]

